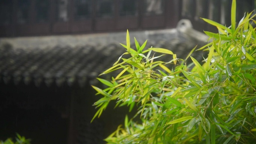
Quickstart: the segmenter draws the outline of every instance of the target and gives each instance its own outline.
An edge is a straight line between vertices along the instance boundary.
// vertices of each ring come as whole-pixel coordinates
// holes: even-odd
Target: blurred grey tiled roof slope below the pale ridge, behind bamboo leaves
[[[196,44],[204,44],[193,37],[188,39],[190,36],[182,31],[170,31],[143,32],[150,43],[147,47],[167,48],[177,53],[178,58],[184,58]],[[43,82],[48,86],[53,83],[57,86],[63,83],[71,86],[77,82],[83,86],[88,79],[94,79],[111,67],[124,52],[125,48],[116,42],[107,42],[106,45],[46,48],[11,48],[5,45],[0,47],[0,81],[13,81],[16,85],[33,82],[36,86]],[[201,54],[196,56],[200,57]]]

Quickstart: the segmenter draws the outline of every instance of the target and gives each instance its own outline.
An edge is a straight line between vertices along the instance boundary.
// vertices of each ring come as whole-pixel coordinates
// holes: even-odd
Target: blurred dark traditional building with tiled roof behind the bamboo
[[[32,144],[103,143],[128,110],[110,104],[90,123],[99,98],[91,85],[100,86],[95,77],[125,52],[118,43],[125,43],[126,30],[140,44],[148,39],[148,47],[182,58],[207,37],[191,34],[188,21],[176,28],[180,19],[189,19],[195,30],[217,32],[200,18],[229,26],[231,3],[0,0],[0,140],[18,132]],[[255,0],[237,0],[237,21],[254,9]]]

